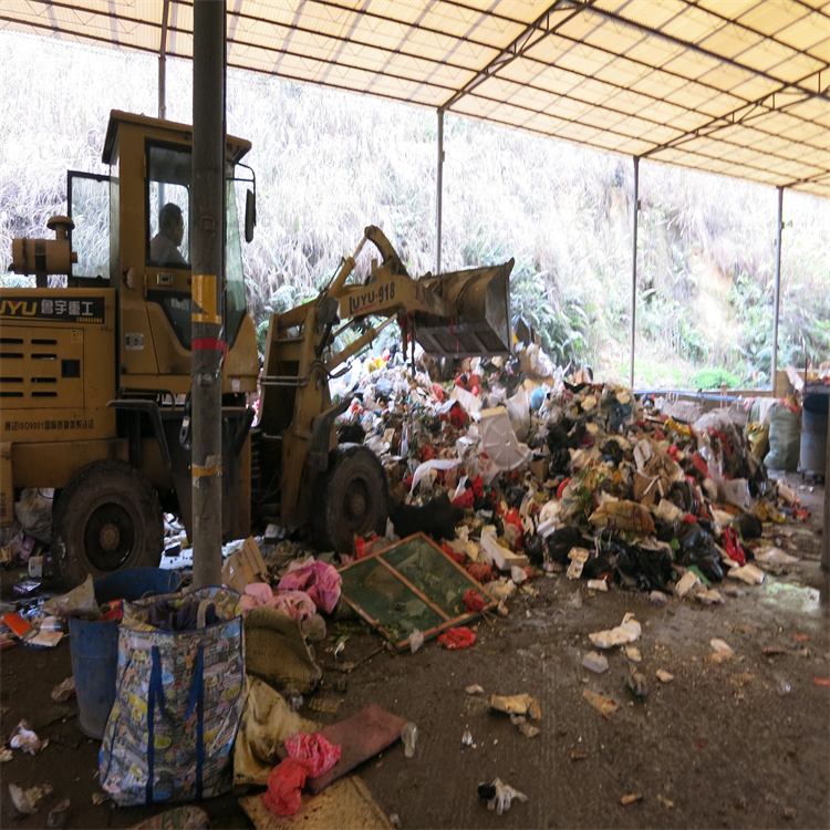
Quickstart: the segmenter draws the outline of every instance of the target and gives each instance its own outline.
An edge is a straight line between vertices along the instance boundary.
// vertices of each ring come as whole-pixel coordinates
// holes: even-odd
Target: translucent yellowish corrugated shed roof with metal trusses
[[[228,65],[830,197],[827,0],[227,0]],[[193,56],[191,0],[0,28]]]

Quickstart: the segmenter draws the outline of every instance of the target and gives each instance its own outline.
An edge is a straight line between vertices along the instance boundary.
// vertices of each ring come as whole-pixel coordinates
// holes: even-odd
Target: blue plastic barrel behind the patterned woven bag
[[[127,568],[94,580],[98,605],[112,600],[134,602],[169,593],[181,577],[160,568]],[[115,703],[118,667],[118,620],[87,622],[70,618],[70,653],[77,697],[77,724],[84,735],[101,739]]]

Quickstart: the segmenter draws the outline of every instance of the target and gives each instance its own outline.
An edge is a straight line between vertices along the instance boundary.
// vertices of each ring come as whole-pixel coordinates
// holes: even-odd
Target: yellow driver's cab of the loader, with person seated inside
[[[239,195],[252,185],[249,168],[240,165],[249,149],[249,142],[227,137],[222,339],[229,349],[226,391],[234,394],[256,390],[259,371],[237,212]],[[194,313],[193,128],[113,111],[103,160],[110,165],[106,266],[118,292],[121,387],[127,394],[186,394]]]

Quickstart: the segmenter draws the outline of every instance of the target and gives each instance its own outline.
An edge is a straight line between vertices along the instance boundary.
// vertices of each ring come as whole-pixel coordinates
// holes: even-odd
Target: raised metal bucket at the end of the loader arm
[[[455,317],[415,315],[415,336],[424,351],[442,357],[509,355],[510,271],[501,266],[427,276],[418,280],[455,309]]]

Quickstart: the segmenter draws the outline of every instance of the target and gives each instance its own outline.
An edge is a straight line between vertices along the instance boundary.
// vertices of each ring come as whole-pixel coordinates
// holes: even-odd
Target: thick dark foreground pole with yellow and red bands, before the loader
[[[221,584],[225,325],[225,0],[194,3],[193,412],[194,588]]]

